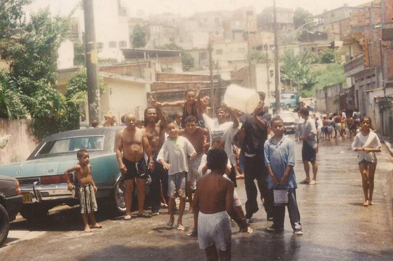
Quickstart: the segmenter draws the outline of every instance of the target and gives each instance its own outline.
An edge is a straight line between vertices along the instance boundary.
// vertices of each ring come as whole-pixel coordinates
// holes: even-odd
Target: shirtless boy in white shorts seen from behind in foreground
[[[220,261],[231,260],[230,217],[236,223],[241,222],[233,209],[233,182],[223,177],[227,164],[223,149],[210,150],[207,165],[211,173],[202,176],[196,185],[194,216],[198,220],[199,248],[205,250],[209,261],[218,257]]]

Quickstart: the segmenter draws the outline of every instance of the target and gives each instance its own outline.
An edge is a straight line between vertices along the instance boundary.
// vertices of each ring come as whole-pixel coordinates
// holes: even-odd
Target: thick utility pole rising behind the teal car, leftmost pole
[[[95,46],[93,0],[83,0],[85,16],[85,50],[88,84],[89,124],[93,120],[101,123],[100,89],[98,88],[98,55]]]

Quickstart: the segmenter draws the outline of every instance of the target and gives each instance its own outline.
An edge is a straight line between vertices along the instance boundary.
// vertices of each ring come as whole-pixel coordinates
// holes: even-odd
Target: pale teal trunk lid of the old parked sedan
[[[90,154],[90,159],[103,155],[106,154]],[[0,174],[16,178],[63,174],[77,163],[75,155],[45,157],[0,166]]]

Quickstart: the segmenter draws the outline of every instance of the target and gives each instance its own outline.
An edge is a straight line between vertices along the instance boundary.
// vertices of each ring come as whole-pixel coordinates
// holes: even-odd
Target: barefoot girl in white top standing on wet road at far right
[[[357,152],[357,162],[362,176],[362,186],[365,202],[364,207],[374,205],[374,174],[376,168],[375,152],[381,152],[381,142],[375,132],[370,131],[371,119],[364,117],[361,121],[360,132],[352,142],[352,149]]]

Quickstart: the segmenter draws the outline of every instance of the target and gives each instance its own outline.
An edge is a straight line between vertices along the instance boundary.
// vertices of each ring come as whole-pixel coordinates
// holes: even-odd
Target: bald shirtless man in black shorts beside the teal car
[[[144,152],[148,157],[148,167],[150,171],[154,170],[154,162],[146,134],[140,128],[136,127],[135,115],[128,113],[125,115],[124,129],[116,135],[116,157],[119,162],[119,168],[125,183],[125,220],[131,219],[132,191],[134,183],[138,186],[138,216],[150,217],[151,215],[143,212],[145,199],[147,173]]]

